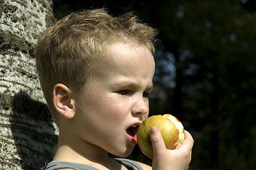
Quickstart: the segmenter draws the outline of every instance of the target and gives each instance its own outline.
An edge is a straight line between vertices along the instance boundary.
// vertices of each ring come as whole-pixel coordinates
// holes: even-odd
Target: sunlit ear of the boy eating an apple
[[[64,84],[56,84],[53,89],[53,105],[60,115],[67,119],[74,118],[74,99],[71,98],[70,89]]]

